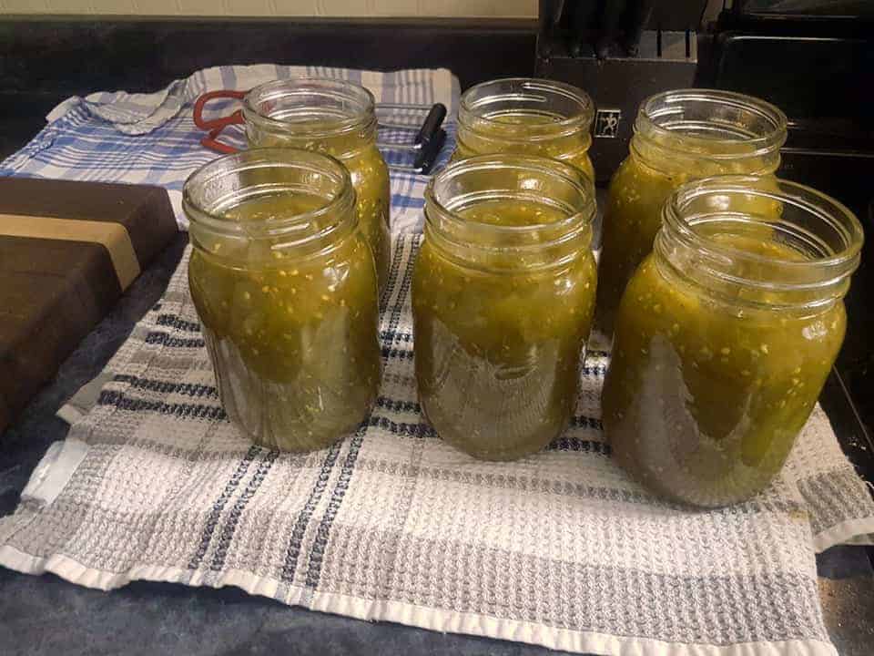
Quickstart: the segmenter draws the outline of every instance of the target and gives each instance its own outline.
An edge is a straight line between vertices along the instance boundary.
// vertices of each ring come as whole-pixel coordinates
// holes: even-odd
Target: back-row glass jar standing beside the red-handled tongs
[[[243,98],[246,136],[253,147],[281,146],[326,153],[349,169],[361,231],[371,244],[380,289],[389,278],[389,169],[376,147],[373,95],[336,79],[274,80]]]

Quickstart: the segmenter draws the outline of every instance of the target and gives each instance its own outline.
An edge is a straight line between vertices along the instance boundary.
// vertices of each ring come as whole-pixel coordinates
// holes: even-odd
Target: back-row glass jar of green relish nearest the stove
[[[641,104],[628,157],[607,193],[595,305],[601,339],[613,335],[625,284],[652,250],[671,193],[707,176],[773,174],[786,125],[778,108],[730,91],[666,91]]]

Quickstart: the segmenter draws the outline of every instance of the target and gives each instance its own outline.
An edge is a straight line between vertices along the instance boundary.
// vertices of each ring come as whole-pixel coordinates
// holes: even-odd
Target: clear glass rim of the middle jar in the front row
[[[442,184],[445,180],[455,176],[469,174],[473,171],[483,169],[502,169],[502,168],[517,168],[535,170],[539,173],[561,178],[565,182],[571,184],[580,196],[584,199],[584,206],[581,210],[568,215],[563,220],[554,221],[552,223],[531,223],[523,226],[504,226],[493,223],[483,223],[482,221],[474,221],[463,218],[457,211],[448,207],[443,199],[439,198],[439,194],[435,191],[437,185]],[[562,231],[570,229],[575,223],[591,222],[595,214],[595,188],[591,179],[584,174],[583,171],[564,164],[564,162],[556,159],[545,158],[538,155],[515,155],[515,154],[492,154],[492,155],[477,155],[471,158],[460,159],[452,162],[445,169],[432,176],[429,180],[424,192],[425,201],[431,204],[433,208],[442,213],[444,219],[449,220],[456,226],[476,226],[483,232],[491,232],[493,234],[524,234],[535,231]],[[428,212],[425,212],[425,220],[428,221]]]

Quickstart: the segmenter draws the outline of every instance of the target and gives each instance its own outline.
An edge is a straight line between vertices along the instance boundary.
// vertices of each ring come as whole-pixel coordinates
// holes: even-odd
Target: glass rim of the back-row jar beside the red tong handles
[[[310,121],[288,121],[273,118],[259,110],[259,103],[265,100],[303,93],[320,94],[325,98],[339,98],[359,105],[357,111],[351,113],[347,118],[335,118],[328,121],[320,119],[320,123],[324,123],[326,127],[319,130],[308,129],[307,136],[334,137],[376,125],[376,100],[370,89],[350,80],[333,77],[286,77],[260,84],[249,90],[249,93],[243,97],[243,117],[250,123],[279,132],[305,126]],[[318,105],[302,107],[318,108]]]

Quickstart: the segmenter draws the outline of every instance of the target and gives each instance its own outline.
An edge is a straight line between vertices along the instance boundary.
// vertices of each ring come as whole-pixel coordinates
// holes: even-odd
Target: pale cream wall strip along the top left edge
[[[2,14],[534,18],[537,0],[0,0]]]

